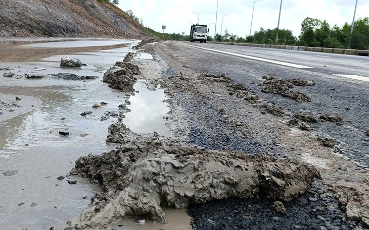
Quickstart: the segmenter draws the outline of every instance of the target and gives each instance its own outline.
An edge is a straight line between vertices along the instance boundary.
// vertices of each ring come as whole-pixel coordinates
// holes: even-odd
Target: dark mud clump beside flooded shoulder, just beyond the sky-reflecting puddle
[[[137,80],[134,75],[141,74],[141,72],[138,66],[130,63],[132,59],[133,53],[129,52],[123,62],[116,62],[106,71],[103,82],[108,83],[110,88],[133,92],[133,84]]]

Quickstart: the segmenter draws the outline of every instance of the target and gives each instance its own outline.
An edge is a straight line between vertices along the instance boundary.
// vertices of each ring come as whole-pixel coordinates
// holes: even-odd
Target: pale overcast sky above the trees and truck
[[[331,27],[342,27],[345,22],[351,25],[356,0],[283,0],[280,29],[292,30],[294,36],[300,35],[301,22],[306,18],[327,20]],[[218,0],[216,33],[227,29],[230,34],[245,37],[250,33],[253,0]],[[280,0],[261,0],[255,3],[252,32],[276,28],[280,11]],[[144,25],[166,33],[190,33],[191,23],[206,24],[209,34],[214,36],[217,0],[120,0],[119,8],[132,10],[143,19]],[[200,13],[198,15],[197,13]],[[222,15],[227,15],[222,17]],[[369,1],[358,0],[356,17],[369,17]],[[223,19],[223,23],[222,23]]]

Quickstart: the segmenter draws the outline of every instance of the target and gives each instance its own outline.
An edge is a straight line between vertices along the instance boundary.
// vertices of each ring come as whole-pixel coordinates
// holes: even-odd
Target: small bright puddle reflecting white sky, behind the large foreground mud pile
[[[170,137],[171,133],[164,125],[163,117],[169,112],[169,105],[164,90],[157,88],[155,91],[148,90],[143,81],[134,84],[136,93],[129,98],[131,102],[127,107],[130,112],[125,113],[124,124],[135,133],[157,132],[159,135]]]

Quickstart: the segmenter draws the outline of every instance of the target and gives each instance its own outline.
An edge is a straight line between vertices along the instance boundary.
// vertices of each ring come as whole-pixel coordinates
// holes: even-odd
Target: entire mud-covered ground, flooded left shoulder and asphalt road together
[[[137,42],[2,49],[5,229],[368,228],[365,57]]]

